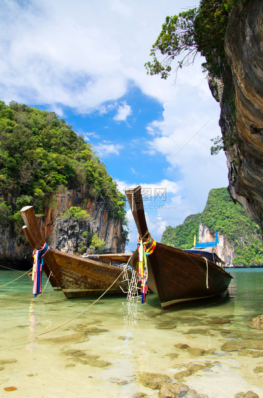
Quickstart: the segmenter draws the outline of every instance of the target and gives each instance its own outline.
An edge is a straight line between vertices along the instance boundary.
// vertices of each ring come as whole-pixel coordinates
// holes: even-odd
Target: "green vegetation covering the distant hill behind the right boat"
[[[188,216],[176,228],[166,227],[161,243],[173,244],[180,249],[193,247],[199,221],[208,226],[213,234],[217,230],[228,238],[236,254],[235,265],[263,265],[260,228],[242,206],[234,204],[226,188],[211,189],[202,213]]]

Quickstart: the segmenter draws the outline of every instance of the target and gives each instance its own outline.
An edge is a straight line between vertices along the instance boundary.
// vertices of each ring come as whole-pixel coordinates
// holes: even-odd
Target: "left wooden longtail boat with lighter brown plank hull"
[[[23,226],[25,236],[33,250],[40,250],[45,242],[33,206],[23,207],[20,213],[25,222]],[[130,256],[131,254],[104,254],[83,258],[50,249],[44,254],[43,269],[47,276],[52,272],[52,286],[59,286],[67,298],[95,296],[101,295],[110,287],[123,271],[118,265],[127,263]],[[132,271],[127,270],[127,273],[131,278]],[[127,290],[127,281],[120,276],[106,294],[123,294],[125,290]]]

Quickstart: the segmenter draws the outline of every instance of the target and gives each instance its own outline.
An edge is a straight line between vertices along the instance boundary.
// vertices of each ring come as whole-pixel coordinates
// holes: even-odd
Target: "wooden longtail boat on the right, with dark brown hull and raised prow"
[[[148,228],[145,220],[141,187],[125,191],[137,226],[139,239],[145,242]],[[199,250],[198,252],[201,252]],[[209,256],[212,254],[209,253]],[[147,286],[159,296],[162,308],[167,309],[182,302],[218,296],[226,291],[232,276],[222,266],[205,258],[206,253],[193,253],[156,243],[155,250],[147,256]],[[213,257],[212,257],[213,259]],[[130,265],[139,271],[139,252],[135,250]]]

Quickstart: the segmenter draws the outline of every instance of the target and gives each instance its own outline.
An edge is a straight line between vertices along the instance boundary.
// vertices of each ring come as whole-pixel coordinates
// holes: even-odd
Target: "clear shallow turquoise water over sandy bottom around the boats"
[[[10,394],[4,388],[15,386],[11,394],[18,397],[131,398],[138,391],[157,397],[159,390],[139,382],[139,372],[161,373],[175,381],[176,373],[210,363],[213,366],[198,371],[195,367],[180,380],[209,398],[234,397],[248,390],[263,398],[263,373],[254,372],[263,367],[259,356],[263,331],[247,326],[251,318],[263,314],[263,269],[230,273],[234,279],[224,298],[163,311],[154,294],[143,305],[127,303],[125,296],[104,296],[72,322],[38,338],[95,298],[67,300],[48,283],[43,295],[33,300],[27,275],[1,287],[0,396]],[[15,271],[0,271],[0,285],[18,276]],[[45,282],[43,278],[43,286]],[[14,343],[21,339],[25,340]],[[251,357],[244,349],[222,349],[233,341],[243,345],[256,341],[257,349],[250,351],[258,356]]]

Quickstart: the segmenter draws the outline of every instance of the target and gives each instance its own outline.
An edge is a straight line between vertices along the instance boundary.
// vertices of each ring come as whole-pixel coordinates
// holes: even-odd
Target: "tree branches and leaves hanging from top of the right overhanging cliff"
[[[152,46],[150,55],[153,62],[145,63],[147,74],[161,74],[161,78],[166,79],[175,58],[181,57],[177,71],[178,68],[193,63],[199,54],[206,58],[202,64],[203,70],[222,77],[228,68],[224,51],[228,14],[238,4],[242,7],[246,1],[201,0],[199,7],[180,12],[178,16],[167,16],[162,31]]]

